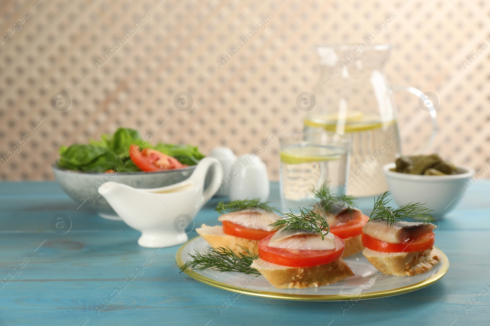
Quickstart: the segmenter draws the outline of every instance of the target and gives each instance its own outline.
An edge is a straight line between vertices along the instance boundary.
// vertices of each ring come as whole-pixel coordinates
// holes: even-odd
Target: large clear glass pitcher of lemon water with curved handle
[[[316,106],[305,118],[304,131],[336,132],[348,141],[348,195],[382,194],[388,190],[382,167],[394,162],[401,153],[393,91],[416,95],[426,108],[431,108],[432,101],[417,88],[390,86],[384,70],[390,44],[331,44],[318,46],[317,51],[320,79],[313,94]],[[437,125],[436,111],[425,110],[433,123],[427,148]]]

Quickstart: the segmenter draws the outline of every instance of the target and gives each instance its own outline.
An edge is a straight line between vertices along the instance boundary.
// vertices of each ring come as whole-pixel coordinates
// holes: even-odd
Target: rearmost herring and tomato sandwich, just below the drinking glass
[[[345,250],[343,258],[352,256],[364,249],[362,229],[369,217],[355,208],[354,197],[332,195],[328,184],[324,183],[319,189],[313,190],[318,198],[313,210],[326,217],[330,233],[343,239]]]

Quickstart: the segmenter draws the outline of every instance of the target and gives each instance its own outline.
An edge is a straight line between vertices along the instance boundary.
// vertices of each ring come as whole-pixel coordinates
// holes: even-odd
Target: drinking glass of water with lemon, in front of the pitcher
[[[345,138],[345,137],[344,137]],[[345,194],[348,142],[335,132],[302,132],[279,137],[279,182],[283,212],[315,204],[314,188],[327,182],[333,194]]]

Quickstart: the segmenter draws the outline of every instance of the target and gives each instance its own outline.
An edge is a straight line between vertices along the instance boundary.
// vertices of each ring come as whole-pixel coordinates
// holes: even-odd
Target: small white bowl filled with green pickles
[[[425,203],[439,219],[458,205],[474,174],[472,169],[457,167],[438,154],[401,156],[383,171],[398,205]]]

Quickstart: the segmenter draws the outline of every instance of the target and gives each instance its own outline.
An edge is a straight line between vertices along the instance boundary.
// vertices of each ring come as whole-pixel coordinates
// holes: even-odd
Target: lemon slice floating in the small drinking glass
[[[322,145],[291,147],[280,152],[281,162],[286,164],[335,161],[339,160],[343,154],[345,150],[341,147]]]

